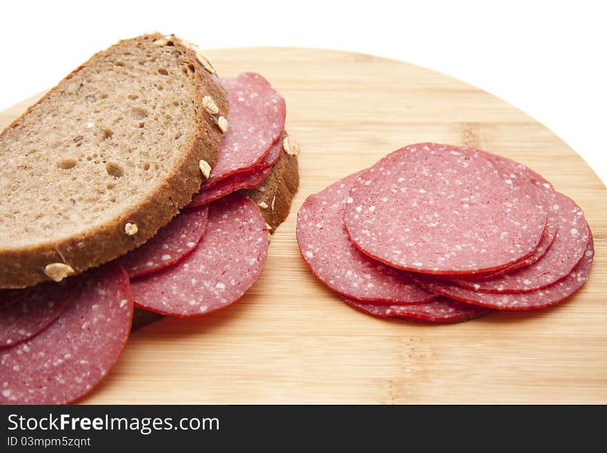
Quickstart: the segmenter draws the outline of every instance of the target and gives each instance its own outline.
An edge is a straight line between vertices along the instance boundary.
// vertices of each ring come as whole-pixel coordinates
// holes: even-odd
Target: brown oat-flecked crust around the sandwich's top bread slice
[[[192,102],[195,106],[197,119],[197,134],[184,146],[183,156],[179,164],[172,169],[166,179],[159,183],[153,192],[138,205],[119,212],[101,227],[92,228],[77,235],[62,237],[53,241],[45,241],[39,245],[23,248],[10,248],[4,245],[0,248],[0,288],[26,288],[40,281],[49,280],[45,268],[50,263],[65,263],[73,269],[74,274],[106,263],[138,247],[154,236],[159,228],[167,225],[179,213],[183,206],[198,192],[202,183],[199,169],[201,159],[211,166],[215,165],[219,154],[219,144],[222,132],[217,126],[219,114],[228,116],[228,97],[219,83],[217,75],[211,74],[197,59],[196,50],[182,43],[176,37],[167,37],[170,44],[181,52],[181,58],[192,65]],[[103,52],[117,52],[135,41],[156,41],[165,39],[161,34],[147,34],[141,37],[119,41]],[[101,53],[101,52],[100,52]],[[94,59],[95,56],[91,57]],[[58,90],[62,84],[90,63],[90,60],[72,71],[63,81],[51,90]],[[50,93],[50,92],[49,92]],[[36,104],[49,98],[49,93]],[[203,97],[209,95],[215,100],[219,114],[215,116],[203,108]],[[16,128],[34,106],[0,134],[0,139],[8,130]],[[126,223],[135,223],[137,232],[127,234]]]

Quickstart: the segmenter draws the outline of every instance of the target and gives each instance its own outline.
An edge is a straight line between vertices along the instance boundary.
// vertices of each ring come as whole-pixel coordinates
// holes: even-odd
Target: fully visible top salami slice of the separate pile
[[[361,174],[344,220],[364,253],[428,274],[499,270],[533,254],[546,226],[526,181],[471,148],[421,143]]]

